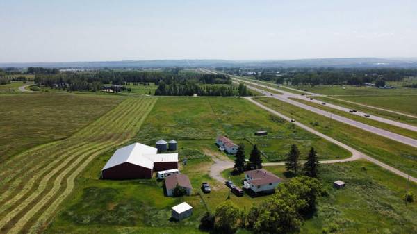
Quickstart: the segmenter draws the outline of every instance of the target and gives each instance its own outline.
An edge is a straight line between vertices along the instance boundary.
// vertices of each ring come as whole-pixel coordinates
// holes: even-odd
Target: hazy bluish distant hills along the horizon
[[[66,69],[152,67],[417,67],[417,58],[313,58],[297,60],[137,60],[106,62],[0,63],[0,67]]]

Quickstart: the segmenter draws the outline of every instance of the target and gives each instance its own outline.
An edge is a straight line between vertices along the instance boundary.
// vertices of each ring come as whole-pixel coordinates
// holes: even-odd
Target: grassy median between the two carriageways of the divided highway
[[[346,117],[348,119],[353,119],[353,120],[355,120],[357,122],[361,122],[363,124],[368,124],[370,126],[375,126],[377,128],[381,128],[381,129],[384,129],[386,131],[390,131],[392,133],[397,133],[397,134],[400,134],[400,135],[404,135],[404,136],[407,136],[407,137],[417,139],[417,132],[406,129],[406,128],[400,128],[398,126],[393,126],[391,124],[385,124],[385,123],[379,122],[377,120],[368,119],[368,118],[363,117],[363,116],[353,115],[350,112],[345,112],[345,111],[342,111],[342,110],[336,110],[336,109],[331,108],[329,106],[320,105],[318,103],[313,103],[311,101],[306,101],[306,100],[297,99],[297,98],[291,98],[291,100],[298,101],[298,102],[306,104],[308,106],[313,106],[313,107],[318,108],[320,110],[325,110],[327,112],[331,112],[333,114],[340,115],[340,116]]]

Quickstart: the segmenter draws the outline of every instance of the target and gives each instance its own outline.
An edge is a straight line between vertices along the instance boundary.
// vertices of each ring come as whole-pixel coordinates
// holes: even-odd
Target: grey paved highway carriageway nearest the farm
[[[292,94],[292,93],[285,92],[285,91],[282,91],[282,90],[277,90],[277,89],[275,89],[273,87],[268,87],[266,85],[261,85],[259,83],[253,83],[253,82],[250,82],[250,81],[241,80],[239,78],[234,78],[233,77],[233,79],[234,79],[234,81],[246,83],[247,84],[247,87],[249,87],[250,89],[255,90],[257,92],[263,92],[268,97],[273,97],[275,99],[279,99],[280,101],[285,101],[286,103],[290,103],[291,105],[298,106],[300,108],[309,110],[311,112],[315,112],[318,115],[323,115],[325,117],[329,117],[331,119],[337,120],[338,122],[343,122],[345,124],[349,124],[350,126],[354,126],[354,127],[357,127],[357,128],[361,128],[361,129],[363,129],[365,131],[368,131],[370,133],[375,133],[377,135],[381,135],[382,137],[386,137],[386,138],[389,138],[391,140],[395,140],[397,142],[401,142],[403,144],[408,144],[411,147],[417,147],[417,140],[412,139],[410,137],[405,137],[405,136],[399,135],[397,133],[391,133],[390,131],[386,131],[386,130],[384,130],[382,128],[376,128],[374,126],[370,126],[368,124],[363,124],[361,122],[357,122],[357,121],[354,121],[352,119],[348,119],[346,117],[341,117],[340,115],[334,115],[331,112],[327,112],[325,110],[321,110],[321,109],[318,109],[318,108],[315,108],[315,107],[306,105],[304,103],[300,103],[300,102],[293,101],[293,100],[289,99],[290,97],[300,98],[300,95]],[[258,85],[260,87],[268,87],[268,89],[270,89],[270,90],[276,90],[277,92],[281,92],[283,94],[280,95],[280,94],[274,94],[274,93],[270,93],[270,92],[267,92],[267,91],[259,90],[256,87],[250,86],[250,84]],[[389,120],[389,119],[386,119],[386,120]],[[395,122],[395,123],[398,123],[398,122]],[[400,126],[400,124],[402,124],[402,123],[398,123],[398,124]],[[409,129],[412,129],[412,128],[410,127]]]

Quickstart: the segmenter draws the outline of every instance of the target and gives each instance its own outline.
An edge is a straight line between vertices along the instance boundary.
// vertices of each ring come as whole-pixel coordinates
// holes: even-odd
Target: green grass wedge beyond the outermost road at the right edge
[[[346,101],[354,101],[368,106],[375,106],[387,110],[403,112],[405,114],[417,115],[417,89],[414,90],[414,95],[400,95],[400,96],[338,96],[337,99]],[[350,104],[350,103],[349,103]],[[407,118],[400,115],[401,118]],[[416,119],[413,119],[416,121]]]

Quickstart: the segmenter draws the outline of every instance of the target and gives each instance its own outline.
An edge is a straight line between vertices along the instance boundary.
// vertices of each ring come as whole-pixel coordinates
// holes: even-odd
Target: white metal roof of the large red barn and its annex
[[[140,167],[154,168],[154,162],[178,162],[178,153],[156,154],[158,149],[146,144],[134,143],[117,149],[103,169],[108,169],[129,162]]]

